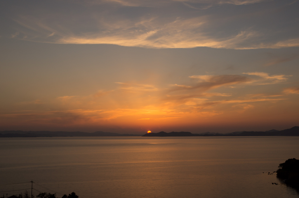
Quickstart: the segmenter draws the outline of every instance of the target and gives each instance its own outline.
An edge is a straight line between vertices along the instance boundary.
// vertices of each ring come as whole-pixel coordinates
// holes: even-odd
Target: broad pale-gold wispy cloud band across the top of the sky
[[[45,13],[36,15],[25,11],[25,13],[20,13],[14,17],[16,24],[10,36],[15,39],[46,43],[115,44],[146,48],[299,47],[295,26],[287,27],[287,30],[282,33],[275,29],[278,27],[270,27],[267,21],[262,22],[263,20],[257,19],[257,16],[263,17],[266,13],[256,10],[255,12],[259,14],[254,15],[252,11],[244,14],[238,11],[237,5],[250,6],[262,2],[269,3],[271,5],[269,9],[277,9],[275,4],[267,0],[78,1],[77,3],[84,6],[77,15],[62,13],[60,10],[57,10],[56,15],[52,12],[47,13],[47,10]],[[74,6],[74,9],[77,9],[74,4],[76,3],[69,2],[70,7]],[[178,4],[186,6],[181,7]],[[234,5],[232,9],[236,9],[235,12],[238,15],[200,11],[201,9],[208,10],[213,6],[220,11],[222,6],[232,4]],[[189,8],[199,9],[199,11],[190,14]],[[130,9],[130,12],[127,9]],[[165,11],[160,12],[160,9]],[[134,14],[130,14],[131,12]],[[248,15],[250,15],[249,18],[253,18],[252,20],[260,22],[246,25],[252,24],[248,22]],[[89,18],[89,20],[84,22],[82,18]],[[242,23],[242,20],[246,23]],[[228,28],[231,26],[234,28]],[[268,30],[265,28],[267,26],[269,26]],[[19,32],[18,35],[15,34],[16,31]]]

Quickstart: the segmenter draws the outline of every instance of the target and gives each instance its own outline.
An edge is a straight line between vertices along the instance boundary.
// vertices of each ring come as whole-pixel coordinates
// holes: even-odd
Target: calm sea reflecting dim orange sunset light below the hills
[[[268,174],[289,158],[299,137],[1,138],[0,196],[298,198]]]

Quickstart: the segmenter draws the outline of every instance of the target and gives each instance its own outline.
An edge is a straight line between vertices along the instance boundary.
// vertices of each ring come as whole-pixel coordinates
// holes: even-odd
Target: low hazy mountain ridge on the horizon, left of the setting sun
[[[66,132],[66,131],[2,131],[0,137],[123,137],[140,136],[136,134],[118,134],[110,132],[97,131],[87,132]]]

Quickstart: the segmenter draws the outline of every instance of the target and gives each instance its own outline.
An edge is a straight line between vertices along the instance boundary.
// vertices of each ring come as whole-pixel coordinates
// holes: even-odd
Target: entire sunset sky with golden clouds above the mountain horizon
[[[298,0],[0,1],[0,131],[299,126]]]

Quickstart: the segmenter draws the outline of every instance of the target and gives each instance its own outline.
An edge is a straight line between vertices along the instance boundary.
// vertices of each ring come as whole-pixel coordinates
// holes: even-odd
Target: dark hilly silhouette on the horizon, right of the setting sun
[[[227,134],[221,133],[201,133],[193,134],[190,132],[170,132],[166,133],[161,131],[159,133],[146,133],[142,137],[180,137],[180,136],[299,136],[299,126],[294,126],[291,129],[285,129],[282,131],[270,130],[270,131],[242,131],[232,132]]]

